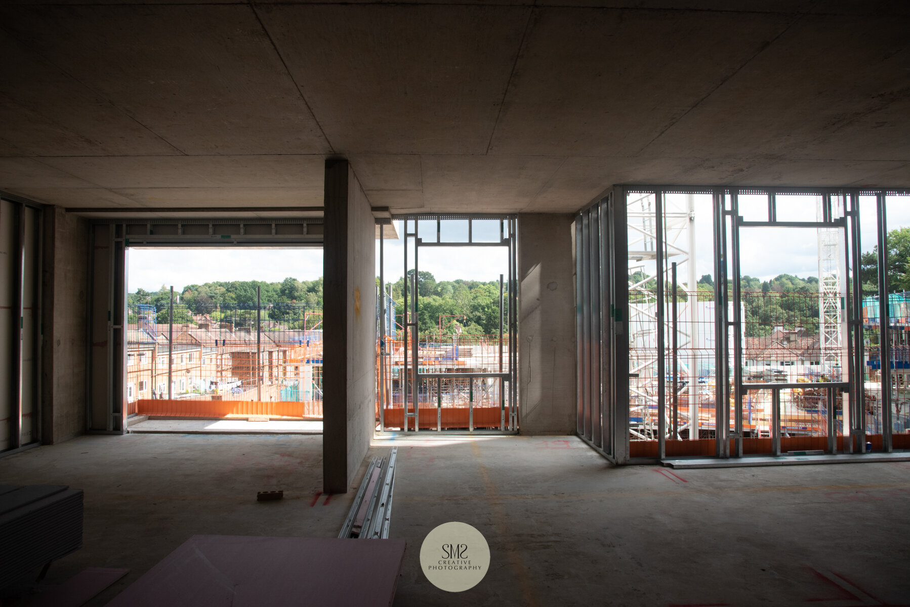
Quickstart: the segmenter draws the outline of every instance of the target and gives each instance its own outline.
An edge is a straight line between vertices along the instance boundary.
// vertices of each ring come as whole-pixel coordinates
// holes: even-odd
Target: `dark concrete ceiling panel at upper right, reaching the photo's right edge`
[[[908,115],[895,119],[910,107],[906,27],[801,18],[643,153],[910,160]]]

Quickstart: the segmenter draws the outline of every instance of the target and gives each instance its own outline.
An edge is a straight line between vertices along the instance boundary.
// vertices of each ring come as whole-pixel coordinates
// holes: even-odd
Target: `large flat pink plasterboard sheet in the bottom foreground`
[[[195,535],[108,607],[388,607],[404,540]]]

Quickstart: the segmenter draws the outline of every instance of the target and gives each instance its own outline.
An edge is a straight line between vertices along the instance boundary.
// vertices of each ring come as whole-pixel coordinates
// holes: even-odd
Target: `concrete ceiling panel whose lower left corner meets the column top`
[[[344,154],[485,154],[530,9],[270,5],[259,14]]]

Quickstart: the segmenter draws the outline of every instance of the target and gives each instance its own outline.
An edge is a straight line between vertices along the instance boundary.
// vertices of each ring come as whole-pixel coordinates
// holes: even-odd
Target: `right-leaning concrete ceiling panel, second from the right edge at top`
[[[516,64],[490,153],[637,154],[792,18],[541,9]]]

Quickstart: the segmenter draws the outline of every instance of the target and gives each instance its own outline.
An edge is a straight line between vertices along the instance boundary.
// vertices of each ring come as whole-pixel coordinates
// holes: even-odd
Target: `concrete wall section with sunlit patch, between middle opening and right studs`
[[[570,213],[518,219],[522,434],[575,432],[573,219]]]

